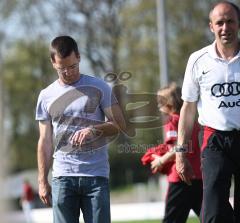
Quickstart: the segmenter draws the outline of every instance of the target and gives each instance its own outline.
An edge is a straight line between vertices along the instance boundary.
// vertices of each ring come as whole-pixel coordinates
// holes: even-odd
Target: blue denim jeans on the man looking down
[[[57,177],[52,180],[54,223],[110,223],[109,182],[104,177]]]

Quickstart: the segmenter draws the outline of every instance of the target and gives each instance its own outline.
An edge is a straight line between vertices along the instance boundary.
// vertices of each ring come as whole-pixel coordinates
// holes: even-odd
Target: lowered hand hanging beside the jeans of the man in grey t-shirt
[[[47,205],[48,207],[51,207],[52,205],[52,193],[51,193],[51,186],[48,183],[48,181],[45,182],[39,182],[39,197],[42,200],[42,202]]]

